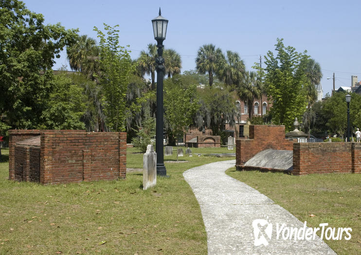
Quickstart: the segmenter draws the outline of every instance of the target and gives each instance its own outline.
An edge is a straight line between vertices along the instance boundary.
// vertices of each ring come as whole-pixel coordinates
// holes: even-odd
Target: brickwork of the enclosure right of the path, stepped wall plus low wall
[[[250,125],[250,139],[236,140],[236,169],[247,170],[244,164],[266,149],[293,151],[290,173],[294,175],[361,173],[361,143],[298,143],[296,139],[285,138],[285,126],[282,125]]]

